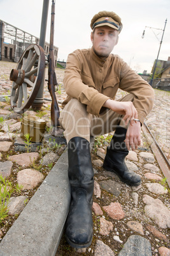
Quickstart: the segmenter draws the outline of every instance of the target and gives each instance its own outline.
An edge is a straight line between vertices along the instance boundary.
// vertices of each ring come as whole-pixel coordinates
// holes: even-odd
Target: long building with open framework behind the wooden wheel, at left
[[[22,29],[0,20],[0,60],[18,62],[22,53],[31,44],[39,45],[39,38]],[[49,53],[49,43],[45,42],[45,54]],[[57,67],[57,53],[59,48],[54,46],[55,66]]]

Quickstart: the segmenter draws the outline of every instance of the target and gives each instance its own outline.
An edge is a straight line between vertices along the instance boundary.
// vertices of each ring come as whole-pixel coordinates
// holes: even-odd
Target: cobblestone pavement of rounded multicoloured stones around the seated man
[[[34,190],[36,182],[39,183],[43,180],[43,176],[36,172],[37,176],[33,176],[40,180],[36,180],[35,177],[33,187],[28,188],[25,183],[22,183],[24,182],[24,176],[22,175],[24,172],[25,175],[27,175],[27,172],[31,175],[32,171],[25,171],[29,169],[25,169],[23,162],[19,162],[24,159],[24,153],[13,151],[13,155],[11,155],[11,148],[14,145],[13,135],[16,136],[17,134],[19,136],[20,121],[24,116],[14,115],[8,103],[11,90],[9,75],[10,70],[15,67],[15,63],[0,61],[0,173],[2,175],[5,173],[7,178],[10,178],[10,175],[14,172],[18,173],[17,182],[25,186],[23,193],[27,198],[28,191]],[[46,77],[47,71],[46,69]],[[57,69],[56,73],[57,82],[59,83],[57,100],[60,105],[66,97],[62,83],[64,71]],[[169,95],[169,92],[155,90],[153,110],[146,118],[146,124],[168,159],[170,146]],[[117,97],[122,96],[124,96],[124,92],[119,91]],[[44,97],[50,99],[46,82]],[[46,101],[44,104],[44,115],[41,118],[45,119],[50,127],[49,104],[50,101]],[[37,113],[28,111],[28,114],[36,115]],[[115,174],[103,169],[108,136],[96,139],[92,150],[92,163],[95,172],[94,239],[92,245],[87,249],[75,252],[73,248],[66,244],[63,237],[56,255],[170,255],[169,187],[143,132],[141,132],[141,135],[142,145],[136,152],[129,152],[126,158],[129,169],[141,176],[142,184],[138,187],[125,185]],[[45,157],[48,153],[51,155],[46,158],[49,160],[47,164],[53,164],[58,158],[52,152],[46,152],[44,155],[37,155],[38,153],[34,152],[34,157],[40,158],[39,162],[45,164]],[[14,162],[15,167],[13,167]],[[16,165],[16,162],[18,165]],[[27,168],[29,168],[29,164],[31,163],[28,163]],[[25,198],[22,200],[25,200]],[[14,206],[15,202],[13,201],[12,207],[15,208]],[[16,213],[12,211],[12,207],[10,208],[10,214],[15,215]],[[6,229],[1,223],[0,236],[3,237],[5,233]]]

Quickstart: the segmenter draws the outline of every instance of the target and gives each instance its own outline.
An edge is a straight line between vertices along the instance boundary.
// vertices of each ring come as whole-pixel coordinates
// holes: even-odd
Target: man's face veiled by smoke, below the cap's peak
[[[118,31],[107,25],[96,27],[91,33],[91,40],[97,56],[106,58],[118,43]]]

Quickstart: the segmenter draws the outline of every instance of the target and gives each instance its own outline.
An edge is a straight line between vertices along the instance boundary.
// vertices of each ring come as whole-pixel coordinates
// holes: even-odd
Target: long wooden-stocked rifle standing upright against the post
[[[51,16],[51,30],[50,30],[50,53],[48,55],[48,90],[52,97],[51,105],[51,122],[53,127],[59,126],[59,105],[57,103],[57,97],[55,94],[55,85],[57,83],[57,77],[55,74],[55,64],[54,64],[54,52],[53,52],[53,35],[54,35],[54,17],[55,17],[55,1],[52,0],[52,16]]]

